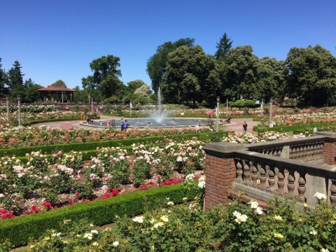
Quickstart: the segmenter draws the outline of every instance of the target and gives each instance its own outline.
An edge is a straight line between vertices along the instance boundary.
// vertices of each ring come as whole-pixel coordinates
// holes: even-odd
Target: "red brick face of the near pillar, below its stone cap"
[[[205,175],[207,186],[205,187],[204,209],[228,202],[229,190],[236,179],[235,160],[207,154]]]

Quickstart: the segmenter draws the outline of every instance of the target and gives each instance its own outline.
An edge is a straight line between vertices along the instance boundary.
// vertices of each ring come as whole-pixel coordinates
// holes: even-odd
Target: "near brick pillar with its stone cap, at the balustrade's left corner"
[[[236,167],[233,153],[244,148],[241,144],[207,144],[204,149],[205,160],[205,196],[204,209],[228,202],[228,192],[236,179]]]

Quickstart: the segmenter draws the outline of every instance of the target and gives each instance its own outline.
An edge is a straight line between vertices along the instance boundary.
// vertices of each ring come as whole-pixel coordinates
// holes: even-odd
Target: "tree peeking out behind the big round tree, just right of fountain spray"
[[[147,73],[152,80],[152,90],[158,93],[158,89],[162,83],[162,78],[166,72],[166,64],[169,52],[174,51],[182,45],[193,46],[194,38],[181,38],[175,42],[165,42],[158,46],[155,54],[147,61]]]

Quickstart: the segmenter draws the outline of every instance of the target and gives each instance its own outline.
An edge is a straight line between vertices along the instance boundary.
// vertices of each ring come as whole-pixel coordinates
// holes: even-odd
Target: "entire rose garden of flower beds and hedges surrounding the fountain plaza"
[[[175,117],[195,118],[207,117],[211,111],[165,110]],[[221,111],[219,118],[228,116],[225,107]],[[230,108],[231,125],[239,117],[258,123],[253,133],[245,135],[242,130],[230,131],[230,124],[221,125],[216,132],[214,123],[167,130],[131,128],[126,132],[111,127],[18,127],[16,111],[10,111],[9,122],[2,112],[0,248],[333,251],[336,211],[328,200],[330,191],[316,191],[312,195],[314,205],[303,200],[301,208],[297,208],[296,196],[286,197],[288,193],[263,202],[240,190],[223,204],[204,206],[209,168],[204,148],[208,143],[306,141],[312,138],[314,127],[317,131],[335,131],[333,111],[331,107],[298,111],[276,107],[274,127],[269,128],[267,111]],[[60,112],[48,106],[22,113],[23,121],[34,118],[34,123],[82,116],[81,112]],[[117,112],[111,111],[109,116],[113,113]],[[124,115],[127,113],[131,112],[125,110]],[[139,110],[138,114],[145,113]],[[235,178],[239,176],[237,168]],[[262,183],[262,172],[256,176]]]

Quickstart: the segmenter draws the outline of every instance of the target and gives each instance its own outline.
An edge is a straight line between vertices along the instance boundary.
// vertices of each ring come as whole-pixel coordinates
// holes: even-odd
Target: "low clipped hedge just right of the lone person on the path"
[[[297,124],[297,125],[283,125],[283,126],[275,126],[275,127],[265,127],[265,126],[254,126],[253,130],[256,132],[266,132],[272,130],[274,132],[296,132],[296,133],[304,133],[311,132],[314,127],[328,126],[330,123],[307,123],[307,124]]]

